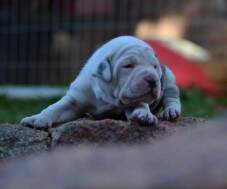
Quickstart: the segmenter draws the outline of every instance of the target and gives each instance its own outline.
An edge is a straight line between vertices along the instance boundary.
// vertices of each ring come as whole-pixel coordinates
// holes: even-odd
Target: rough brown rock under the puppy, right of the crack
[[[82,119],[50,130],[52,146],[62,144],[147,143],[157,137],[170,135],[179,127],[200,123],[201,119],[181,118],[175,122],[160,121],[158,126],[141,126],[119,120]]]

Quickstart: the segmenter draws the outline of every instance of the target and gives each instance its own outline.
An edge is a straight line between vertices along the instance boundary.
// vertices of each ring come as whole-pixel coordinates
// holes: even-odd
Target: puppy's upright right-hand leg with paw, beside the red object
[[[179,89],[175,84],[175,77],[167,70],[167,82],[163,94],[163,111],[159,118],[163,120],[174,120],[181,114],[181,102]]]

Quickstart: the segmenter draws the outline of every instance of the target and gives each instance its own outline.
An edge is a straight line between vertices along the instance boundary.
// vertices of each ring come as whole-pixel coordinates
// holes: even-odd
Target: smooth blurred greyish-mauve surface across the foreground
[[[10,161],[0,167],[1,189],[227,188],[226,122],[177,129],[153,144],[62,147]]]

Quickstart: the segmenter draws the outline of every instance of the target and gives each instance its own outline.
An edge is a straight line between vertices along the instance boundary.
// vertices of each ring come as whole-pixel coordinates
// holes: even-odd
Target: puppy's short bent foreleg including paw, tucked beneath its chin
[[[158,123],[157,117],[151,113],[149,105],[146,103],[126,110],[125,115],[128,120],[139,122],[142,125],[156,125]]]

